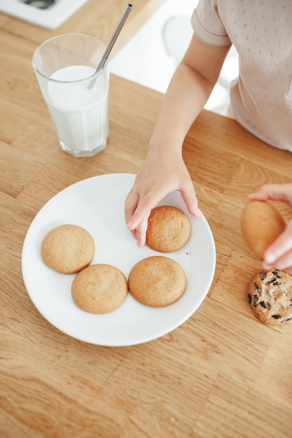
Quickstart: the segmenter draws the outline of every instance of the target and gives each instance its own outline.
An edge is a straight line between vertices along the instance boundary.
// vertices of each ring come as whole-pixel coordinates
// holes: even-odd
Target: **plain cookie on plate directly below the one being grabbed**
[[[176,302],[186,289],[186,275],[179,263],[163,255],[140,260],[128,278],[132,296],[153,307]]]

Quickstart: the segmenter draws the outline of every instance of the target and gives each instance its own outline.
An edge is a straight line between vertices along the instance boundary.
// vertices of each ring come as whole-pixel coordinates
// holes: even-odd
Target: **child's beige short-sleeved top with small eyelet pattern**
[[[292,2],[200,0],[192,24],[204,43],[232,43],[239,53],[239,78],[230,90],[236,120],[292,151]]]

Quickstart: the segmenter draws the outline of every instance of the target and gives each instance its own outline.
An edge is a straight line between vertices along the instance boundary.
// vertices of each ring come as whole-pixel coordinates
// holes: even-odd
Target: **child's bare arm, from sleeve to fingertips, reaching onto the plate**
[[[146,160],[125,201],[125,221],[139,246],[145,243],[151,209],[169,192],[179,190],[190,213],[199,214],[181,150],[188,129],[218,79],[229,48],[230,45],[210,46],[193,36],[174,73],[149,141]]]

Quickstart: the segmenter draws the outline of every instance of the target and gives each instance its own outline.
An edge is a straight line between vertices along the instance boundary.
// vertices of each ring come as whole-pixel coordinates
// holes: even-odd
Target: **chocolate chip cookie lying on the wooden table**
[[[292,276],[272,269],[256,275],[249,285],[249,303],[263,323],[279,325],[292,320]]]

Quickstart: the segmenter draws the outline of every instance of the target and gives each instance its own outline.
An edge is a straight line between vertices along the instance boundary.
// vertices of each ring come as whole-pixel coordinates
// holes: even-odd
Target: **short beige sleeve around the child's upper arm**
[[[209,45],[230,45],[230,38],[218,14],[217,0],[200,0],[192,15],[197,38]]]

